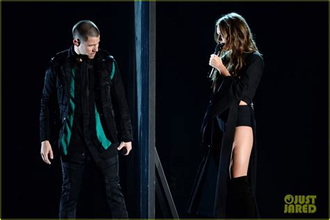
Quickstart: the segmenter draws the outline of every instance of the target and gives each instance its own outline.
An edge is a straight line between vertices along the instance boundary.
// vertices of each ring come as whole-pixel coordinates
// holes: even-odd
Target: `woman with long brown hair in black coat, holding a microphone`
[[[202,125],[207,148],[198,169],[188,212],[209,217],[259,217],[256,205],[256,121],[253,96],[263,59],[245,19],[223,15],[214,39],[223,45],[212,54],[212,99]]]

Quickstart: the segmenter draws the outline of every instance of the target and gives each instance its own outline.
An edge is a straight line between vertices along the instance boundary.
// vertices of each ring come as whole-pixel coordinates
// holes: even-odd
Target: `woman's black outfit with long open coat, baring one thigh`
[[[252,100],[260,82],[264,63],[262,56],[257,52],[244,53],[242,56],[244,66],[237,73],[238,77],[219,77],[217,90],[212,93],[205,113],[201,132],[202,146],[206,153],[198,168],[189,198],[187,211],[191,214],[214,218],[236,217],[235,212],[239,212],[239,207],[233,214],[233,204],[237,205],[237,200],[242,201],[241,198],[245,196],[245,202],[240,209],[244,213],[239,217],[259,217],[255,198],[257,151],[256,120]],[[241,100],[248,105],[239,107]],[[237,179],[230,177],[229,169],[235,127],[242,125],[251,126],[253,129],[253,148],[248,175]],[[244,209],[253,213],[245,212]]]

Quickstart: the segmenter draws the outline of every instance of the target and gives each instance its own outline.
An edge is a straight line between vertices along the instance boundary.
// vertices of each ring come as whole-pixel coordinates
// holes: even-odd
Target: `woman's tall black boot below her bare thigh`
[[[259,218],[256,202],[246,175],[230,180],[226,207],[228,218]]]

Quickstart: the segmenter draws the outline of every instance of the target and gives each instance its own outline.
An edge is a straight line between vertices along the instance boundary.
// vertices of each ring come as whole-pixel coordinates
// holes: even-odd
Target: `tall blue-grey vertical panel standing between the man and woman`
[[[155,3],[135,2],[140,217],[155,216]]]

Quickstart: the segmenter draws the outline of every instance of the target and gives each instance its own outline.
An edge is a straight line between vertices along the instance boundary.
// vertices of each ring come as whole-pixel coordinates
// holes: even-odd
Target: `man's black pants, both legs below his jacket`
[[[90,159],[87,155],[84,161],[71,162],[61,158],[63,184],[60,202],[59,217],[61,219],[74,219],[83,179],[85,164]],[[124,196],[119,184],[118,155],[103,159],[97,163],[104,177],[106,196],[113,218],[128,218]]]

